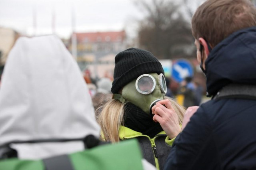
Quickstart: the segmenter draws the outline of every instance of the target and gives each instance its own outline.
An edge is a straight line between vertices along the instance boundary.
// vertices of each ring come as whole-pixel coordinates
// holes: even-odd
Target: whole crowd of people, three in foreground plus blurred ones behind
[[[256,169],[256,8],[207,0],[191,25],[212,99],[188,77],[185,107],[149,51],[121,51],[113,81],[93,86],[57,36],[19,38],[1,78],[0,169]]]

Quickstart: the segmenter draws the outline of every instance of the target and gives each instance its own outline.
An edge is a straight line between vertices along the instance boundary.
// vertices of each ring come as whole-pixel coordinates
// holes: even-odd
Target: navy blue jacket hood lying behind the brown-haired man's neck
[[[224,39],[206,62],[210,96],[227,84],[256,84],[256,27],[242,29]]]

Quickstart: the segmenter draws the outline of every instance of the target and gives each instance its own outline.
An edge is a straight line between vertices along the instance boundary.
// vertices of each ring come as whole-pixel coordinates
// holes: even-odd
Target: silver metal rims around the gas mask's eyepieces
[[[151,78],[151,80],[153,81],[153,86],[152,86],[152,88],[151,88],[150,90],[148,90],[148,91],[146,91],[146,92],[143,92],[143,91],[141,91],[141,89],[139,88],[138,83],[139,83],[139,81],[141,80],[141,78],[142,78],[142,77],[145,77],[145,76]],[[163,82],[163,81],[164,81],[164,82]],[[164,77],[163,73],[160,73],[160,74],[158,75],[158,83],[159,83],[161,92],[162,92],[163,94],[166,94],[166,92],[167,92],[167,86],[166,86],[166,80],[165,80],[165,77]],[[150,75],[150,74],[143,74],[143,75],[140,75],[140,76],[137,78],[137,80],[136,80],[136,82],[135,82],[135,86],[136,86],[136,90],[137,90],[139,93],[141,93],[141,94],[143,94],[143,95],[149,95],[149,94],[151,94],[151,93],[154,91],[154,89],[155,89],[155,87],[156,87],[156,80],[155,80],[155,78],[154,78],[152,75]]]

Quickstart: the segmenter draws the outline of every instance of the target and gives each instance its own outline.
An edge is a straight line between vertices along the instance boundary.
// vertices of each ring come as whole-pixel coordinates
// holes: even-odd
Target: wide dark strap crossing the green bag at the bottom
[[[45,170],[74,170],[68,155],[60,155],[43,159]]]

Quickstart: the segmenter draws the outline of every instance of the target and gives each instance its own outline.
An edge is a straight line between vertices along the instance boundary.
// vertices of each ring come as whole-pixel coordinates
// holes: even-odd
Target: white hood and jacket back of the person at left
[[[99,136],[88,87],[57,36],[19,38],[0,89],[0,144],[13,140]],[[83,149],[82,142],[16,144],[19,158]]]

